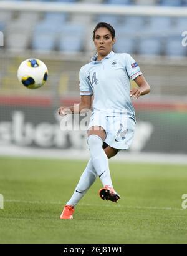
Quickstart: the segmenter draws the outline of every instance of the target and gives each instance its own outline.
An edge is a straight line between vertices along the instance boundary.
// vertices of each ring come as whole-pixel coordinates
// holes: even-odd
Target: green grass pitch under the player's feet
[[[60,220],[86,162],[0,158],[0,243],[186,243],[187,166],[110,162],[118,204],[97,180],[73,220]]]

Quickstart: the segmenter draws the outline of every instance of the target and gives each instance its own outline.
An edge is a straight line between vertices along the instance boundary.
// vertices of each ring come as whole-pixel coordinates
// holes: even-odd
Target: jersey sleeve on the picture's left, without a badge
[[[79,72],[79,87],[80,87],[80,95],[87,96],[93,95],[92,87],[89,84],[89,79],[86,76],[86,72],[81,68]]]

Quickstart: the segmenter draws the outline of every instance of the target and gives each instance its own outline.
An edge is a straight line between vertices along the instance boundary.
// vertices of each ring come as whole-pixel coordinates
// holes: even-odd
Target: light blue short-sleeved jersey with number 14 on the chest
[[[130,99],[130,79],[142,73],[126,53],[110,52],[102,61],[97,56],[80,69],[80,95],[93,95],[93,110],[127,113],[135,117]]]

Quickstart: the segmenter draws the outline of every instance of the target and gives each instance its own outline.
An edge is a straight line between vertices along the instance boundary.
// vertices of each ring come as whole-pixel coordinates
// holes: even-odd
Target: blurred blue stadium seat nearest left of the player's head
[[[67,24],[62,27],[59,40],[59,50],[75,53],[83,49],[85,27],[75,24]]]

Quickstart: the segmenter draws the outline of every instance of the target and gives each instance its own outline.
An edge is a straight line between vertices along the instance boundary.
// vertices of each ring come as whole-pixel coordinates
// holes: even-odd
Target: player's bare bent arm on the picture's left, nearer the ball
[[[81,96],[80,103],[74,104],[70,107],[59,107],[58,112],[60,116],[66,116],[67,114],[80,114],[88,112],[92,107],[92,95]]]

